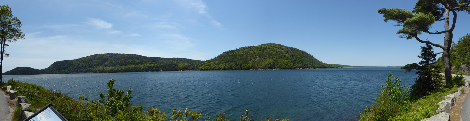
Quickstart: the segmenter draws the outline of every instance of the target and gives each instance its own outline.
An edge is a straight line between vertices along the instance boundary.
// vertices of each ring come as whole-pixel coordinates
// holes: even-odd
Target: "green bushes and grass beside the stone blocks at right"
[[[390,75],[387,80],[390,80]],[[370,107],[366,106],[364,113],[360,112],[360,121],[421,121],[424,118],[429,118],[432,115],[438,114],[438,102],[445,99],[446,95],[453,94],[457,88],[462,86],[462,78],[453,78],[453,82],[446,86],[440,86],[434,91],[430,92],[429,95],[413,99],[405,95],[405,92],[409,90],[401,90],[403,86],[399,87],[399,81],[397,78],[394,81],[387,81],[387,85],[395,88],[384,88],[382,87],[381,95],[376,96],[376,104],[372,104]],[[395,84],[392,84],[394,83]],[[460,83],[460,84],[459,84]],[[394,91],[384,91],[394,90]],[[398,93],[395,96],[383,96],[383,92]],[[401,96],[400,96],[401,95]],[[393,99],[393,97],[396,97]],[[377,99],[378,98],[378,99]],[[397,98],[402,98],[400,101],[396,101]],[[395,100],[395,101],[394,101]]]

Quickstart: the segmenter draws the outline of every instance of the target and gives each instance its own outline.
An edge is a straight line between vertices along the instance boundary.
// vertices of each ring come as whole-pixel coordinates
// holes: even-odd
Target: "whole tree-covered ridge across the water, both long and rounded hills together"
[[[3,75],[342,67],[350,66],[323,63],[305,51],[267,43],[230,50],[207,61],[104,53],[75,60],[56,61],[44,69],[18,67]]]

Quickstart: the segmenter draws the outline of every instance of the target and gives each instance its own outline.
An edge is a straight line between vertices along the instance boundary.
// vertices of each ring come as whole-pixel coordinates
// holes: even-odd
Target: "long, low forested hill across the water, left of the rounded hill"
[[[56,61],[51,66],[40,70],[18,67],[3,73],[3,75],[197,70],[197,62],[200,61],[184,58],[157,58],[135,54],[105,53],[69,61]]]

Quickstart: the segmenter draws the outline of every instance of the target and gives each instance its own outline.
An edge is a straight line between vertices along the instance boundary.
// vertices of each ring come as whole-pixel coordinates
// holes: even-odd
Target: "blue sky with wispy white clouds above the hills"
[[[205,61],[265,43],[294,47],[330,64],[404,66],[421,60],[424,44],[399,38],[401,27],[385,23],[377,10],[412,10],[416,1],[2,0],[25,34],[8,44],[2,73],[101,53]],[[469,20],[458,12],[455,42],[470,33]],[[443,29],[442,22],[431,28]],[[444,44],[443,34],[419,37]]]

